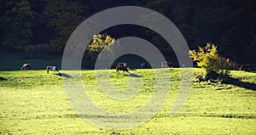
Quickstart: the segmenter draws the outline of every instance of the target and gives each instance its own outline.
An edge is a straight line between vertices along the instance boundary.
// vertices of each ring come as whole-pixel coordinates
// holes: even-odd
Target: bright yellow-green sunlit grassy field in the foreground
[[[170,117],[180,69],[170,71],[162,75],[171,76],[172,86],[161,110],[145,124],[125,130],[102,129],[79,117],[65,95],[63,76],[48,75],[45,70],[0,71],[0,134],[256,134],[256,73],[231,71],[240,80],[235,85],[195,82],[183,109]],[[201,73],[200,69],[194,71]],[[113,86],[120,90],[128,87],[129,79],[143,81],[137,95],[128,101],[104,95],[97,87],[95,70],[82,70],[82,81],[95,104],[126,113],[141,107],[154,87],[153,70],[131,72],[141,77],[116,74],[115,70],[110,73]]]

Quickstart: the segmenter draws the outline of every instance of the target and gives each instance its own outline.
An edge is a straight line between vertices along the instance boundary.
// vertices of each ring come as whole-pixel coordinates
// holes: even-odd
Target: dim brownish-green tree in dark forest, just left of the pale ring
[[[44,12],[48,16],[48,26],[55,30],[56,36],[49,41],[50,48],[56,52],[61,52],[74,31],[82,20],[84,20],[84,10],[81,4],[60,0],[58,3],[52,0],[46,2]]]

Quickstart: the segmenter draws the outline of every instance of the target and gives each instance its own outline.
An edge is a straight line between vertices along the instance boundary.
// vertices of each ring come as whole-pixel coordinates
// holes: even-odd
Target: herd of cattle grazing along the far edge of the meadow
[[[161,62],[161,68],[171,68],[172,67],[172,63],[168,62],[168,61],[163,61]],[[130,66],[127,65],[126,63],[118,63],[118,65],[116,65],[116,72],[119,72],[120,70],[122,71],[126,71],[128,73]],[[142,63],[140,65],[140,68],[145,69],[147,68],[147,64],[146,63]],[[31,64],[24,64],[20,67],[20,70],[31,70],[32,69],[32,65]],[[49,74],[49,70],[52,70],[53,72],[58,72],[60,73],[60,71],[58,70],[58,68],[56,66],[53,65],[48,65],[46,66],[46,72]],[[252,70],[252,66],[251,65],[241,65],[241,64],[237,64],[235,62],[231,63],[230,66],[230,70],[245,70],[245,71],[251,71]]]

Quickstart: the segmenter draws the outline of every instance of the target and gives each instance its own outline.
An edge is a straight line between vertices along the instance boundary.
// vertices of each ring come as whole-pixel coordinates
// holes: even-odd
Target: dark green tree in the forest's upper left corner
[[[35,13],[28,1],[6,1],[1,28],[3,30],[3,46],[24,48],[31,43],[32,25]]]

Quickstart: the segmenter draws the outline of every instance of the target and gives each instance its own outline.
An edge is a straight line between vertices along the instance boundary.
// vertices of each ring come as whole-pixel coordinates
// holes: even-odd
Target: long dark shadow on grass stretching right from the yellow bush
[[[224,83],[226,84],[232,84],[235,85],[237,87],[243,87],[243,88],[247,88],[247,89],[251,89],[253,91],[256,91],[256,84],[255,83],[251,83],[251,82],[241,82],[239,79],[236,78],[232,78],[230,77],[227,81],[225,81]]]

